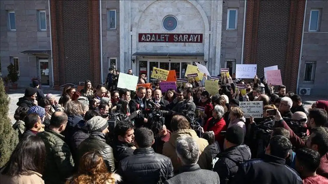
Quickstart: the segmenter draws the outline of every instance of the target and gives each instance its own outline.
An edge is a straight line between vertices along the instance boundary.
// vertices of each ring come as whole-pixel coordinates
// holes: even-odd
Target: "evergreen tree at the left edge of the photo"
[[[0,77],[0,167],[7,163],[18,143],[18,132],[11,127],[8,110],[9,99]]]

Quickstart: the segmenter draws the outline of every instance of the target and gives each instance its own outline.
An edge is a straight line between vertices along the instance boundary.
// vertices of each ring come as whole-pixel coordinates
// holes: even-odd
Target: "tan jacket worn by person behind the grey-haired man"
[[[198,144],[199,146],[199,153],[201,154],[205,147],[208,145],[207,140],[203,138],[199,138],[193,129],[183,129],[183,130],[177,130],[171,134],[169,142],[165,142],[163,145],[163,155],[169,157],[172,160],[172,165],[174,168],[174,171],[177,172],[179,170],[179,167],[181,166],[181,163],[177,161],[177,156],[175,153],[175,141],[177,138],[181,136],[191,136]]]

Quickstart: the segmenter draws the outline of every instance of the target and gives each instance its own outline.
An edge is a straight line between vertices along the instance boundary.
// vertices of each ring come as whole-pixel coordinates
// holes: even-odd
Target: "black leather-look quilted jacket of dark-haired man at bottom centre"
[[[153,148],[138,148],[133,155],[120,161],[118,174],[123,183],[163,183],[174,176],[171,159],[157,154]]]

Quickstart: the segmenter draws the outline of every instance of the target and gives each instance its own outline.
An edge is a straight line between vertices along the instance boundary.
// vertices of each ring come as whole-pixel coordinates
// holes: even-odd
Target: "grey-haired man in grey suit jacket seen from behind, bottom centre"
[[[197,183],[197,184],[219,184],[219,176],[216,172],[201,169],[197,164],[199,147],[190,136],[182,136],[176,140],[176,154],[178,162],[181,162],[178,175],[166,180],[166,184]]]

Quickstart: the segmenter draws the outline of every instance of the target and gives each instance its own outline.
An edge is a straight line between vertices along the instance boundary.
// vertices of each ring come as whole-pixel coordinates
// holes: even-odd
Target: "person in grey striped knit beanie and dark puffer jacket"
[[[86,126],[90,130],[90,136],[81,142],[78,148],[78,158],[81,158],[86,152],[99,151],[105,160],[108,171],[114,172],[113,148],[106,143],[106,137],[109,133],[107,120],[100,116],[95,116],[86,122]]]

